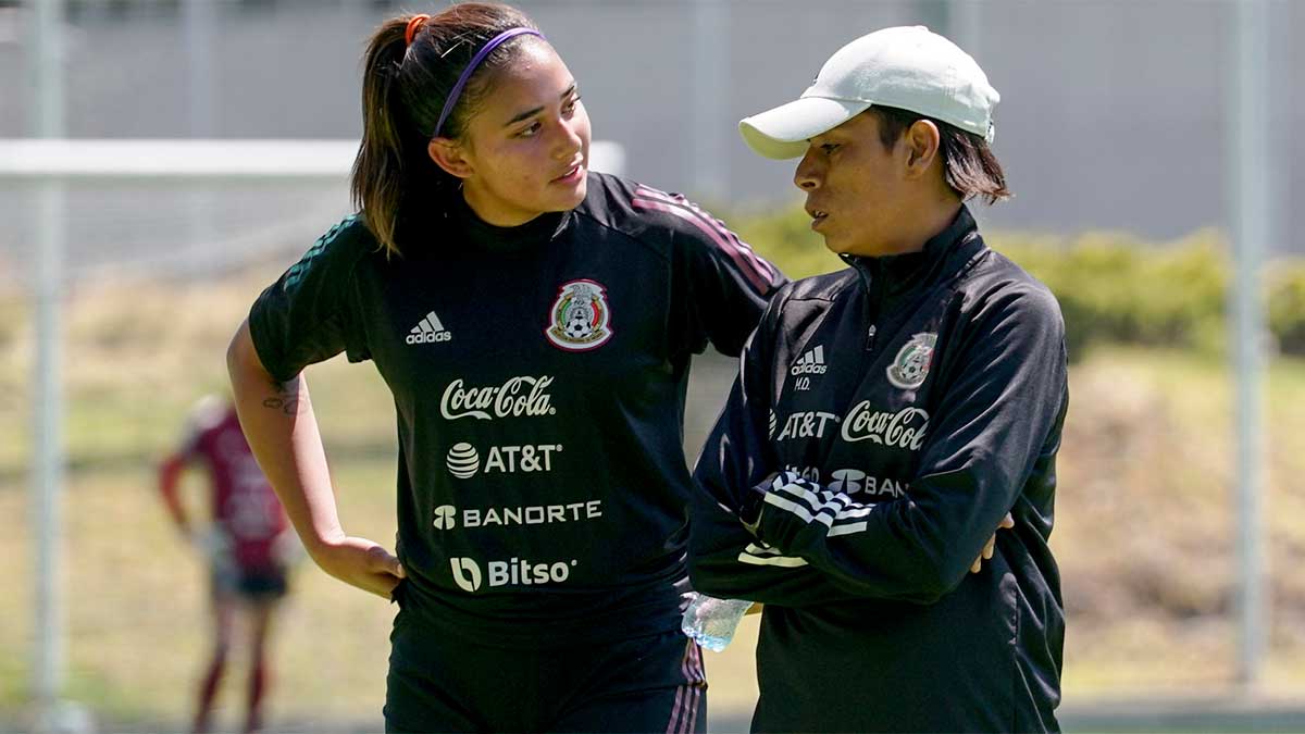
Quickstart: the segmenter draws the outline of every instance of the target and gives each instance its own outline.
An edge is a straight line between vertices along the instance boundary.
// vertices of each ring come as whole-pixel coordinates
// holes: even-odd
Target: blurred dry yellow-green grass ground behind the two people
[[[223,389],[227,337],[277,266],[196,283],[84,285],[69,300],[65,342],[69,469],[64,496],[67,696],[104,722],[187,721],[207,636],[205,577],[171,529],[154,465],[191,402]],[[0,727],[21,721],[31,644],[27,502],[31,336],[14,302],[0,306]],[[12,319],[9,319],[12,316]],[[694,385],[690,453],[732,372],[706,360]],[[722,376],[723,375],[723,376]],[[352,534],[394,535],[393,407],[369,366],[337,359],[309,372],[341,513]],[[1057,530],[1069,610],[1065,696],[1229,690],[1232,619],[1232,410],[1221,359],[1100,349],[1071,374]],[[1268,396],[1274,628],[1266,691],[1305,684],[1305,364],[1278,360]],[[197,485],[194,486],[197,488]],[[380,705],[393,607],[299,568],[275,644],[269,722],[369,722]],[[750,643],[709,654],[713,710],[756,696]],[[234,661],[239,665],[239,656]],[[241,682],[223,688],[235,721]]]

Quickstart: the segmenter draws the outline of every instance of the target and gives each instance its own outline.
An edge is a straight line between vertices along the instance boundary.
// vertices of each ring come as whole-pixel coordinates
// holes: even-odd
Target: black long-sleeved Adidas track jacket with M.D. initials
[[[1060,307],[966,209],[848,261],[771,300],[696,469],[694,588],[766,605],[753,729],[1054,730]]]

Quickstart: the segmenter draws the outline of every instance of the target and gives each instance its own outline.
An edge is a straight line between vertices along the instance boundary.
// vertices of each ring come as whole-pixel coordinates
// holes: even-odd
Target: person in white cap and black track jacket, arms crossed
[[[1065,328],[964,204],[1010,196],[998,98],[890,27],[739,125],[850,265],[775,294],[696,469],[694,588],[765,605],[756,731],[1058,729]]]

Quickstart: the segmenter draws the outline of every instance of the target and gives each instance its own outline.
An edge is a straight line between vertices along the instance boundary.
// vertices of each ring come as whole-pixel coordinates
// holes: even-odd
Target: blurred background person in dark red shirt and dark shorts
[[[179,494],[188,466],[207,473],[210,520],[204,524],[187,515]],[[209,563],[214,640],[194,731],[209,729],[241,611],[248,618],[251,665],[244,730],[256,731],[269,679],[265,653],[271,618],[288,589],[287,571],[299,541],[288,532],[286,511],[254,461],[230,400],[206,396],[196,404],[181,445],[159,466],[159,491],[177,529]]]

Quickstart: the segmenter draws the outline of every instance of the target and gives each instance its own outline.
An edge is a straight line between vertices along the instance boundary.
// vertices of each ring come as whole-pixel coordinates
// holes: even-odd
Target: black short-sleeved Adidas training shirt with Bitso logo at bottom
[[[345,219],[249,315],[277,379],[343,351],[389,384],[395,596],[504,644],[673,628],[689,359],[739,354],[782,276],[683,197],[600,174],[521,227],[461,201],[423,225],[386,256]]]

